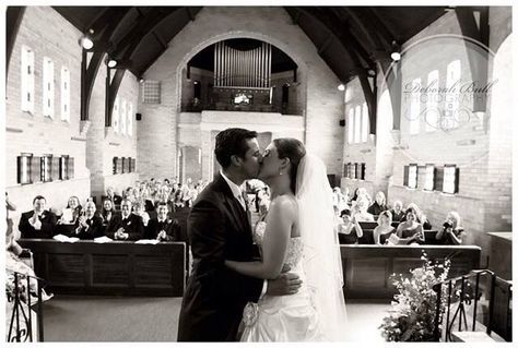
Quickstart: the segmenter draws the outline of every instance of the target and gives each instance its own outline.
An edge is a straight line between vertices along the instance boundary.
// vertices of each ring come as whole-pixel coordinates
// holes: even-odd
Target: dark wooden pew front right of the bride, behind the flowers
[[[396,293],[392,274],[409,275],[420,267],[422,252],[431,260],[451,257],[450,277],[480,266],[480,247],[472,245],[340,245],[346,298],[390,299]]]

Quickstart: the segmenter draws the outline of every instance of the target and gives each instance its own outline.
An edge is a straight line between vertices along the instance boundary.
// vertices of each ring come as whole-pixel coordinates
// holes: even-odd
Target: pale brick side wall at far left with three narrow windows
[[[17,33],[5,89],[5,191],[17,211],[10,214],[17,224],[21,213],[32,209],[33,197],[43,194],[47,205],[61,209],[70,195],[82,202],[90,195],[90,170],[85,158],[85,136],[80,123],[81,33],[49,7],[27,7]],[[34,113],[21,110],[21,47],[34,51]],[[55,116],[43,116],[43,59],[54,61]],[[61,67],[70,71],[70,122],[61,121]],[[16,183],[16,156],[52,154],[74,158],[74,179],[20,185]]]

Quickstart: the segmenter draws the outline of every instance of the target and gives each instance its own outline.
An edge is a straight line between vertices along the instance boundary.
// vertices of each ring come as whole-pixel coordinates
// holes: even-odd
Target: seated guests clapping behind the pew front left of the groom
[[[98,211],[92,199],[84,207],[79,197],[71,196],[60,216],[47,209],[47,201],[37,195],[33,211],[23,213],[19,229],[22,238],[52,238],[57,235],[94,239],[106,236],[114,240],[186,241],[180,224],[170,213],[190,207],[207,183],[181,185],[164,182],[137,182],[118,195],[107,188]]]

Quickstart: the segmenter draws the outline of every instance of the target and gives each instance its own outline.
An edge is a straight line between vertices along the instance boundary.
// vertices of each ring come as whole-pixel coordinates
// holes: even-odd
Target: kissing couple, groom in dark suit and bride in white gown
[[[193,262],[178,341],[345,340],[340,245],[322,160],[289,137],[261,154],[257,133],[238,128],[216,135],[214,154],[222,169],[187,221]],[[243,183],[255,178],[270,187],[271,203],[252,228]]]

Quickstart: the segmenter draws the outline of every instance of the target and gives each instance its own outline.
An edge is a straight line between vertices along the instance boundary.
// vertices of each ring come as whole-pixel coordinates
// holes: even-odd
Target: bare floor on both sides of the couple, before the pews
[[[181,298],[56,295],[44,307],[46,341],[175,341]],[[390,304],[348,302],[351,340],[382,343]]]

